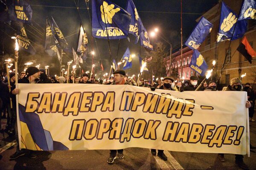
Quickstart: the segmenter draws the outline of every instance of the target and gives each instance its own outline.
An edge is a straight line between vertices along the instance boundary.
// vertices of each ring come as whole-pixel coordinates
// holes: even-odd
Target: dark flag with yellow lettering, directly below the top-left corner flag
[[[29,52],[32,55],[35,55],[36,50],[33,45],[30,43],[29,38],[27,37],[25,28],[22,22],[14,21],[17,26],[17,40],[20,49]]]

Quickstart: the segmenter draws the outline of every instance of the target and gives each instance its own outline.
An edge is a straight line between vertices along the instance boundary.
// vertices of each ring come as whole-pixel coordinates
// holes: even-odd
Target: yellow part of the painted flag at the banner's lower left
[[[23,138],[24,145],[21,145],[21,148],[26,148],[30,150],[38,150],[35,146],[35,142],[32,139],[32,136],[29,132],[29,128],[24,122],[20,122],[20,129],[21,129],[21,137]],[[26,146],[26,147],[25,147]]]

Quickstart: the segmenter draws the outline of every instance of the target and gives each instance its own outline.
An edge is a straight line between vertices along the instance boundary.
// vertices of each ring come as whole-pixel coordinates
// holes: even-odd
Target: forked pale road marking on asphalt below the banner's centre
[[[153,156],[161,170],[184,170],[183,167],[176,161],[176,159],[169,153],[169,151],[164,151],[164,154],[167,156],[168,161],[163,161],[158,156]],[[166,162],[169,162],[172,167],[170,167],[170,165],[168,166]]]

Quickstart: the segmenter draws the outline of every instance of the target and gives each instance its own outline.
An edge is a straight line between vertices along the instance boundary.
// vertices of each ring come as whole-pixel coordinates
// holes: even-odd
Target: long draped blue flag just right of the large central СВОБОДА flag
[[[131,14],[131,24],[129,28],[129,33],[136,37],[135,44],[140,40],[140,45],[153,50],[153,46],[150,44],[148,32],[143,26],[140,16],[137,12],[137,8],[132,0],[127,1],[126,10]]]

